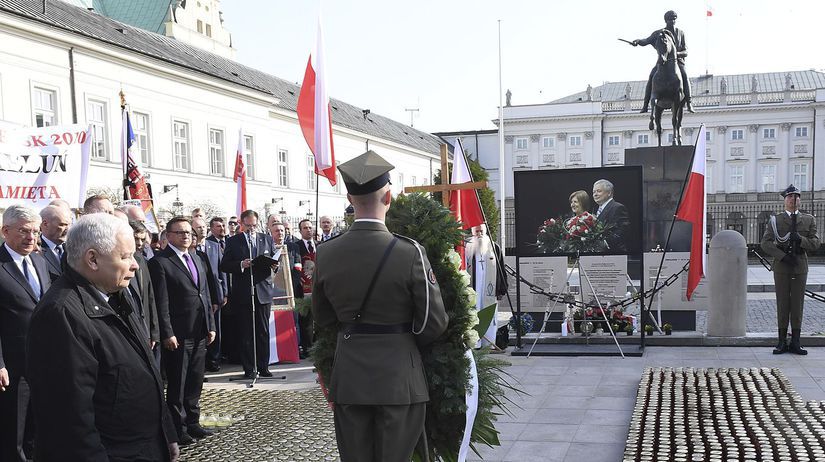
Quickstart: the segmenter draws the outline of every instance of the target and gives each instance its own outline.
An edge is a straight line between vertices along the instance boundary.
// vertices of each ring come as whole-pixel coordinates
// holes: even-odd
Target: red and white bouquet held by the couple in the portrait
[[[610,225],[590,212],[572,218],[549,218],[539,226],[536,247],[543,253],[601,252]]]

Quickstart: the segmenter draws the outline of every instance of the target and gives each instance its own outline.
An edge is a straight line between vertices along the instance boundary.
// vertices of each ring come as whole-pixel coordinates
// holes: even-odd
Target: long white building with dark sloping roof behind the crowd
[[[300,88],[231,59],[219,6],[218,0],[0,0],[0,121],[90,124],[89,187],[118,191],[122,90],[161,210],[206,206],[234,213],[242,129],[249,206],[314,214],[314,164],[295,112]],[[302,73],[305,62],[299,65]],[[374,149],[396,166],[396,192],[430,183],[440,165],[438,137],[342,101],[331,105],[339,163]],[[318,202],[320,214],[343,215],[343,185],[322,178]]]

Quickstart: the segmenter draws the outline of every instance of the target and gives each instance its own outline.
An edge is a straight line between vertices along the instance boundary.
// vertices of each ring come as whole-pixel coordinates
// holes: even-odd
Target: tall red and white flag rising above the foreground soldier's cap
[[[301,93],[298,95],[298,123],[315,156],[315,173],[335,186],[335,149],[332,145],[332,111],[325,82],[324,38],[318,16],[315,54],[309,55]]]

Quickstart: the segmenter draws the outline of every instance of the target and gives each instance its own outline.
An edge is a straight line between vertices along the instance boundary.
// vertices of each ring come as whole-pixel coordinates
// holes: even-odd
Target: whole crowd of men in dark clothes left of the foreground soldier
[[[312,290],[315,246],[333,237],[328,217],[319,239],[309,220],[300,239],[277,216],[268,232],[258,221],[253,210],[224,220],[195,209],[151,233],[140,207],[116,208],[105,196],[89,197],[79,213],[60,200],[39,213],[7,208],[0,462],[176,460],[179,445],[211,435],[199,424],[205,372],[229,360],[245,378],[272,375],[280,268],[259,277],[253,260],[285,250],[301,298]],[[312,319],[296,321],[305,357]]]

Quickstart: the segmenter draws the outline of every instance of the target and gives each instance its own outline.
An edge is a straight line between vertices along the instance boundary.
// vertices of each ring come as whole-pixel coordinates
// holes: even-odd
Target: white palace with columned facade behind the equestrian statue
[[[697,111],[685,113],[682,141],[694,144],[699,125],[707,127],[708,231],[735,229],[748,243],[758,242],[768,216],[781,207],[778,192],[789,183],[806,192],[803,208],[825,218],[825,73],[710,75],[691,82]],[[508,221],[514,171],[623,165],[625,149],[656,146],[649,115],[639,113],[644,85],[606,83],[549,103],[508,104]],[[668,112],[662,125],[670,126]],[[461,138],[489,170],[498,194],[497,130],[437,135],[450,143]],[[662,144],[671,136],[666,130]]]

